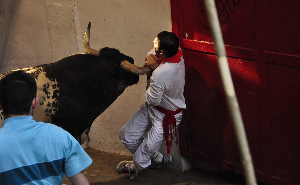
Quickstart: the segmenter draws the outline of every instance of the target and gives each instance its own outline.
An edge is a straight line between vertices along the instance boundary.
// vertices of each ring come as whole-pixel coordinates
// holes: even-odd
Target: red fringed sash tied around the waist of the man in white
[[[170,111],[165,108],[162,108],[159,105],[155,106],[155,108],[156,110],[165,114],[163,120],[164,137],[167,145],[167,154],[170,154],[172,142],[174,138],[176,138],[175,143],[178,144],[177,131],[176,131],[176,118],[174,115],[179,114],[182,111],[182,109],[177,109],[176,111]],[[169,133],[171,134],[171,138],[169,136]]]

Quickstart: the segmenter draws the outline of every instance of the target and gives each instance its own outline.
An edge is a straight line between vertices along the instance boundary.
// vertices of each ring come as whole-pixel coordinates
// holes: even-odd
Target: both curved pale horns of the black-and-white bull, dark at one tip
[[[83,53],[99,56],[100,50],[95,50],[90,47],[90,29],[91,29],[91,22],[88,23],[88,28],[86,29],[86,32],[85,32],[85,35],[83,38],[83,42],[82,42]],[[125,71],[128,71],[132,74],[137,74],[137,75],[147,74],[147,73],[151,72],[151,70],[152,70],[148,66],[139,67],[134,64],[131,64],[127,60],[123,60],[120,65],[122,68],[124,68]]]

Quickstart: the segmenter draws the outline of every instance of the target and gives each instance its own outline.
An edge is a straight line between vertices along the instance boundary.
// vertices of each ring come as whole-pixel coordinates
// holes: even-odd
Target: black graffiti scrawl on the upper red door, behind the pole
[[[229,21],[229,11],[233,13],[235,11],[235,7],[238,7],[240,4],[240,0],[232,0],[232,5],[229,4],[229,1],[230,0],[215,0],[217,9],[220,10],[219,7],[221,7],[221,11],[218,13],[220,23],[226,23]],[[200,3],[199,8],[202,14],[205,14],[205,16],[200,17],[201,24],[206,29],[209,29],[208,25],[205,24],[207,22],[205,4]],[[202,19],[205,19],[205,22]]]

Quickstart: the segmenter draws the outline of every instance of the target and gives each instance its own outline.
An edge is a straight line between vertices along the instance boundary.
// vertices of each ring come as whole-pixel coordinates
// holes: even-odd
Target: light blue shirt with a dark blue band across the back
[[[92,159],[62,128],[36,122],[32,116],[11,117],[0,128],[0,185],[61,185]]]

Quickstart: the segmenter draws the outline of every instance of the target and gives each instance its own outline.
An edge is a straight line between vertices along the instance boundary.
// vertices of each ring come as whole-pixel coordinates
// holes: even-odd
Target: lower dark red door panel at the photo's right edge
[[[300,68],[267,64],[272,175],[300,184]]]

